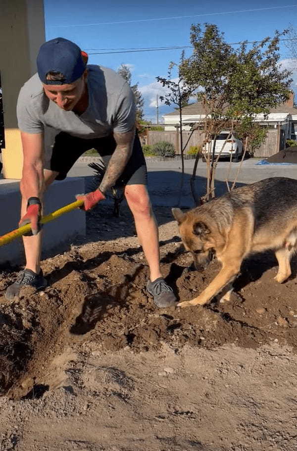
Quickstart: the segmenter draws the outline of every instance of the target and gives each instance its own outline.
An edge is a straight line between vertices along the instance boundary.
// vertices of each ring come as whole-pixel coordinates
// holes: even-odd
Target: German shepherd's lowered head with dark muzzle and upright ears
[[[215,248],[211,230],[191,211],[184,213],[180,208],[172,208],[171,211],[178,223],[185,249],[193,255],[195,268],[204,268],[210,262]]]

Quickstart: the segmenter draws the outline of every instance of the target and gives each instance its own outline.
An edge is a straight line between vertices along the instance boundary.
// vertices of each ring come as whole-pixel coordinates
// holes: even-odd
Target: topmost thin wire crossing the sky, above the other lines
[[[217,16],[217,15],[225,15],[225,14],[235,14],[235,13],[240,13],[240,12],[267,11],[270,9],[292,8],[295,6],[297,6],[297,4],[284,5],[284,6],[270,6],[268,8],[241,9],[238,11],[209,12],[209,13],[204,13],[204,14],[193,14],[190,16],[158,17],[158,18],[153,18],[153,19],[122,20],[119,22],[84,23],[84,24],[76,24],[76,25],[69,25],[69,24],[67,24],[67,25],[50,25],[50,28],[91,27],[91,26],[95,26],[95,25],[116,25],[116,24],[121,24],[121,23],[152,22],[154,20],[189,19],[191,17]]]

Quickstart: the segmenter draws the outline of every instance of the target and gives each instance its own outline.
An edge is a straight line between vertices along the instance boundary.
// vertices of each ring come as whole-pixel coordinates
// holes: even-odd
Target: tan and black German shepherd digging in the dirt
[[[172,208],[186,251],[198,269],[215,252],[222,268],[197,298],[181,307],[204,305],[222,292],[230,301],[232,282],[244,258],[254,252],[275,251],[279,264],[275,280],[291,275],[290,260],[297,249],[297,180],[272,177],[237,188],[187,212]]]

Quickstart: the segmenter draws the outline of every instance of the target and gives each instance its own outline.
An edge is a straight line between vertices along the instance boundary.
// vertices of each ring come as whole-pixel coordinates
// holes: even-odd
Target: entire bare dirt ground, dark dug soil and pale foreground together
[[[158,309],[127,207],[88,214],[88,242],[42,262],[49,287],[4,299],[0,450],[297,449],[297,260],[245,261],[230,302]],[[219,270],[192,269],[169,208],[155,208],[162,271],[179,299]],[[82,213],[83,214],[83,213]]]

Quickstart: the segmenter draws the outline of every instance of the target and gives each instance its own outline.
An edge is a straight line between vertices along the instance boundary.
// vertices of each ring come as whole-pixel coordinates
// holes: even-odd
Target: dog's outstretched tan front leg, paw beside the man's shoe
[[[223,267],[218,275],[197,298],[192,299],[192,301],[179,302],[177,305],[180,307],[190,307],[191,305],[204,305],[209,302],[214,296],[222,291],[227,284],[233,282],[240,271],[241,262],[242,260],[239,260],[238,262],[233,261],[232,265],[230,265],[229,260],[228,265],[223,264]]]

